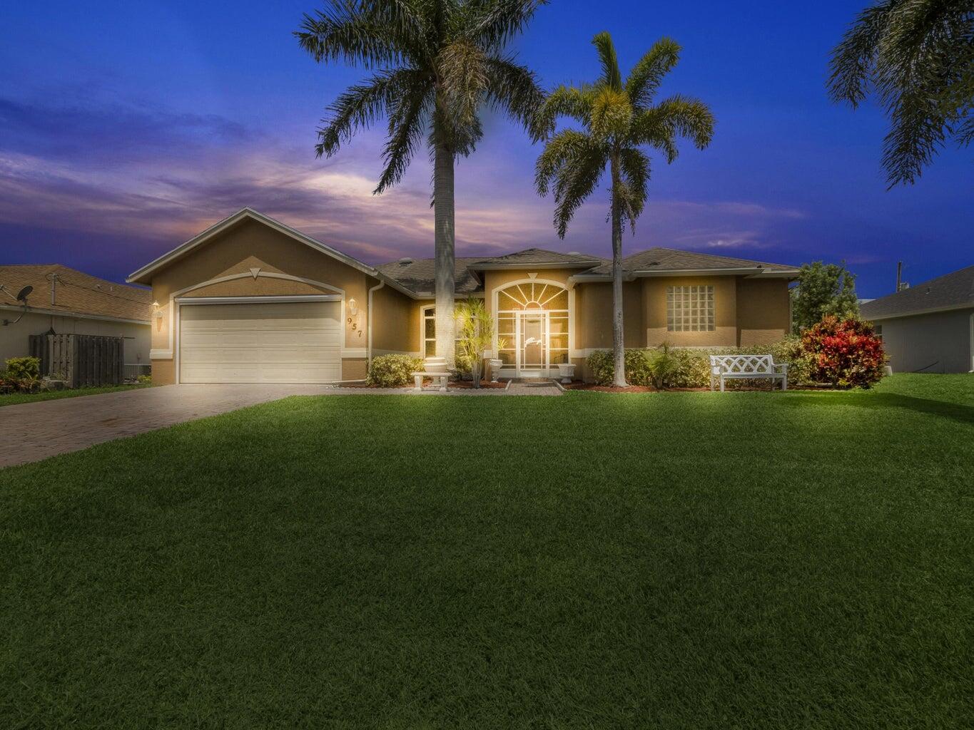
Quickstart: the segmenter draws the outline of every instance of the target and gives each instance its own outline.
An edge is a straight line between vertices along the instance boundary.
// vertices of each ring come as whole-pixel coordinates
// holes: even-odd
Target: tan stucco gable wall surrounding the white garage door
[[[260,269],[261,274],[299,276],[344,290],[346,306],[350,299],[355,299],[358,314],[351,316],[346,310],[345,347],[356,352],[360,349],[361,361],[357,362],[359,355],[352,356],[356,362],[343,366],[343,377],[351,378],[354,374],[355,378],[351,378],[353,380],[364,378],[364,352],[368,344],[368,288],[379,283],[378,280],[254,220],[244,220],[153,275],[153,298],[160,303],[163,310],[163,317],[153,322],[153,349],[168,350],[170,347],[170,309],[173,306],[170,297],[176,292],[183,292],[179,296],[192,297],[335,293],[330,289],[299,281],[263,275],[254,278],[249,275],[250,269]],[[205,288],[191,288],[210,279],[232,274],[248,275]],[[183,291],[188,288],[189,291]],[[350,317],[352,321],[349,321]],[[178,343],[172,342],[171,346],[174,349]],[[160,361],[154,361],[153,381],[160,384],[173,383],[175,373],[172,366],[157,367],[157,362]]]

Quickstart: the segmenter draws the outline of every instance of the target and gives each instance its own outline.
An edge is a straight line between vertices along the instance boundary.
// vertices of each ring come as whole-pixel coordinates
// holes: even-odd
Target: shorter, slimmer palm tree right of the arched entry
[[[643,212],[650,182],[650,158],[641,147],[658,150],[672,163],[677,137],[687,137],[699,149],[710,144],[714,116],[702,101],[670,96],[654,104],[663,77],[676,65],[680,46],[669,38],[633,67],[624,82],[616,48],[609,33],[592,39],[602,65],[594,84],[562,86],[544,101],[536,123],[549,138],[538,158],[538,192],[554,192],[554,226],[565,237],[575,211],[598,185],[606,168],[610,175],[612,218],[613,349],[616,382],[625,387],[625,349],[622,341],[622,230],[634,229]],[[554,133],[559,117],[576,120],[584,128]]]

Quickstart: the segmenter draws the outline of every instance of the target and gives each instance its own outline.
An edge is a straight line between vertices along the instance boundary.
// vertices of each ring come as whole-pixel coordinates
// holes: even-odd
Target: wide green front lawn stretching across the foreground
[[[0,471],[0,726],[959,728],[974,377],[290,398]]]

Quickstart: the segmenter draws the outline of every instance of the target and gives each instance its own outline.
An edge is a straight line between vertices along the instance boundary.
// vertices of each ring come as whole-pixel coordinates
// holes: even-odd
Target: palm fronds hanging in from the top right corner
[[[890,188],[916,182],[948,139],[974,140],[972,39],[972,0],[880,0],[832,52],[832,99],[856,108],[876,91],[889,117]]]

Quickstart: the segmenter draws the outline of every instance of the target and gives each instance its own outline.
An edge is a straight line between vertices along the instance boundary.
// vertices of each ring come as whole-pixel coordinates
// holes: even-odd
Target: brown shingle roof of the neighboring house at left
[[[57,275],[55,303],[51,304],[52,278]],[[0,266],[0,284],[10,296],[0,293],[0,304],[17,306],[12,299],[24,286],[33,286],[27,297],[28,310],[65,314],[90,314],[148,322],[152,317],[152,292],[116,284],[97,276],[68,269],[60,264]]]

